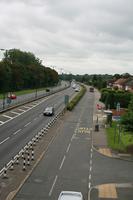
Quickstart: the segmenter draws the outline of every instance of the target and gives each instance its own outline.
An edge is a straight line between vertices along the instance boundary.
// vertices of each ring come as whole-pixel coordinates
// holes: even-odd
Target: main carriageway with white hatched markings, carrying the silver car
[[[52,117],[43,116],[46,106],[55,114],[64,107],[64,95],[75,94],[72,88],[15,108],[0,115],[0,169],[14,157]]]

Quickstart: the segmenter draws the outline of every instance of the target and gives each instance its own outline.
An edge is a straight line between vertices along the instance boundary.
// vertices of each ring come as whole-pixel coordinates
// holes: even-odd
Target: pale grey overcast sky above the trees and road
[[[133,74],[133,0],[0,0],[0,48],[65,73]]]

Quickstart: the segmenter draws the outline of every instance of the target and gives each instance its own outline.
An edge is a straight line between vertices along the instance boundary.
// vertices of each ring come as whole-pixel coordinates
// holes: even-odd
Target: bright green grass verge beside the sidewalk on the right
[[[115,126],[116,124],[113,123],[112,127],[106,129],[108,146],[113,150],[126,152],[127,147],[129,145],[133,145],[133,133],[124,132],[124,130],[122,130],[121,137],[119,139],[118,128],[116,129],[115,134]]]

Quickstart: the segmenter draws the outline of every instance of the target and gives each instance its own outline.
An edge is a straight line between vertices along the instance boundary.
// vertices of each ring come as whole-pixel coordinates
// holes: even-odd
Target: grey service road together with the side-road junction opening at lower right
[[[104,183],[117,185],[113,199],[133,199],[132,188],[126,185],[133,180],[133,163],[108,158],[92,148],[94,95],[87,92],[73,112],[60,119],[56,138],[14,200],[55,200],[62,190],[80,191],[85,200],[89,195],[92,200],[110,200],[100,198],[96,188]],[[101,190],[115,194],[113,185]]]

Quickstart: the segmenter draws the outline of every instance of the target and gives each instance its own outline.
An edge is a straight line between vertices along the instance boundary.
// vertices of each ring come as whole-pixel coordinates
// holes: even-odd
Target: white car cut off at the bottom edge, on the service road
[[[62,191],[58,200],[83,200],[83,195],[81,192]]]

